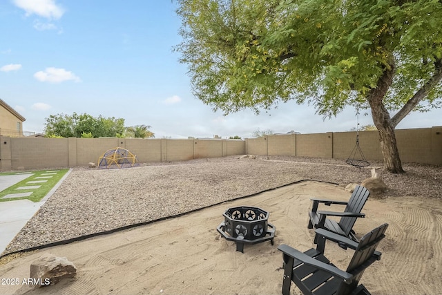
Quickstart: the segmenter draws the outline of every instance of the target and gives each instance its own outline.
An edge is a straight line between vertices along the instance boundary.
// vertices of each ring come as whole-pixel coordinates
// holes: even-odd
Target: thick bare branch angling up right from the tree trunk
[[[424,99],[428,93],[442,80],[442,59],[434,61],[434,73],[432,77],[422,86],[419,91],[414,93],[413,97],[392,117],[393,126],[397,126],[405,116],[407,116],[419,102]]]

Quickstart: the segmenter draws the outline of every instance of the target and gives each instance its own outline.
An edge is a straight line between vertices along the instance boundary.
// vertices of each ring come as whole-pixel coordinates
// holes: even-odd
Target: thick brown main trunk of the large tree
[[[378,129],[385,169],[392,173],[404,173],[394,134],[395,126],[382,101],[392,84],[393,75],[394,64],[391,64],[390,68],[385,68],[383,75],[378,80],[377,87],[372,88],[367,100],[372,109],[374,125]]]

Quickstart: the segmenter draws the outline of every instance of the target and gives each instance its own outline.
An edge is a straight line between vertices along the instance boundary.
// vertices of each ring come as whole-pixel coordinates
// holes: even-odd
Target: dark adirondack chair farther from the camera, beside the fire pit
[[[356,186],[352,196],[348,202],[334,201],[334,200],[322,200],[322,199],[311,199],[313,201],[313,206],[311,207],[311,212],[309,212],[310,221],[309,229],[313,227],[318,229],[327,229],[341,236],[345,236],[352,240],[357,238],[354,235],[353,226],[356,222],[356,218],[365,217],[364,213],[361,213],[365,202],[367,202],[370,192],[365,187],[360,185]],[[323,203],[327,206],[331,204],[345,204],[345,210],[343,212],[332,212],[332,211],[318,211],[318,204]],[[327,218],[327,216],[340,216],[339,222]],[[315,238],[315,243],[316,243]]]

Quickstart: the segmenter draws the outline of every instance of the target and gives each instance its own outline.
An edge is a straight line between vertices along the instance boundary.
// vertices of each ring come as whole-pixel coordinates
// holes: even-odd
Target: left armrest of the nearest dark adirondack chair
[[[338,269],[337,267],[334,267],[332,265],[327,265],[327,263],[323,263],[319,260],[316,260],[315,258],[311,258],[307,254],[302,253],[301,251],[298,251],[288,245],[280,245],[278,247],[279,251],[282,251],[285,255],[294,258],[296,260],[300,260],[302,263],[305,263],[306,265],[311,265],[312,267],[315,267],[317,269],[321,269],[325,272],[328,272],[330,274],[333,274],[334,276],[338,276],[340,278],[343,278],[346,283],[349,283],[353,279],[353,275],[349,274],[347,272],[344,272],[343,270]]]

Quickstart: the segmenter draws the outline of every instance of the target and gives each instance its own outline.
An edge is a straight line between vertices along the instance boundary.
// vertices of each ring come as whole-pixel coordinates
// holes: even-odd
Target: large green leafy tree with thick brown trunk
[[[394,129],[441,106],[442,1],[177,0],[193,93],[225,114],[295,99],[336,116],[370,108],[385,168]],[[390,113],[394,113],[393,116]]]

